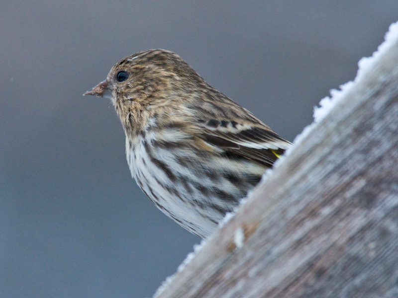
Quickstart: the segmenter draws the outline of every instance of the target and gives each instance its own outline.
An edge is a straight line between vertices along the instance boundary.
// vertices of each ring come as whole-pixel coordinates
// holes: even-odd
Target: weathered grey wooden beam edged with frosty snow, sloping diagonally
[[[156,297],[398,297],[397,42],[396,23]]]

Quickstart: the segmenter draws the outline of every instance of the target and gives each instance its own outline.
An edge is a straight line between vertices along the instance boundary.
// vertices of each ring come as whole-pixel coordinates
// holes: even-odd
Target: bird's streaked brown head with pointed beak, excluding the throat
[[[165,94],[189,92],[203,82],[180,56],[166,50],[147,50],[123,58],[104,81],[83,95],[108,97],[115,106],[128,106],[129,102],[148,105]]]

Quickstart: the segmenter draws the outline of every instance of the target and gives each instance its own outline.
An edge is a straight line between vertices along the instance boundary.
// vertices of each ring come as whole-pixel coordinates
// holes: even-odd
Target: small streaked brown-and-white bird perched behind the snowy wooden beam
[[[123,58],[83,95],[111,99],[132,177],[163,213],[202,238],[292,145],[166,50]]]

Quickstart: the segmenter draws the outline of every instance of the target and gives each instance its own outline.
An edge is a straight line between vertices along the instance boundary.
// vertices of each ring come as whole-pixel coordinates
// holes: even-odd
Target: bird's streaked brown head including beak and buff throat
[[[142,125],[148,113],[189,100],[203,84],[203,78],[180,56],[157,49],[123,58],[104,81],[83,95],[110,98],[126,128],[130,122]]]

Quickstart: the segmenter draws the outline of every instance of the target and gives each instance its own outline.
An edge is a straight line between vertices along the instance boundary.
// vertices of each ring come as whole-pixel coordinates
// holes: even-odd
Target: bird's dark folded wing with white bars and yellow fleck
[[[246,158],[271,167],[292,144],[268,127],[209,120],[203,123],[200,138],[234,157]]]

